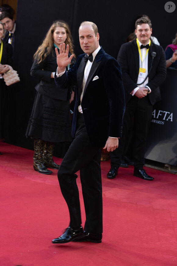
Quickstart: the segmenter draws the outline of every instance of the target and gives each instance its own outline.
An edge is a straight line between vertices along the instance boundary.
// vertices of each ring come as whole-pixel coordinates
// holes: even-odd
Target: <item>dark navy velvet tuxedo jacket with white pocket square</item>
[[[85,54],[78,56],[74,66],[61,77],[55,78],[59,88],[76,84],[76,103],[72,124],[72,135],[76,131],[78,106],[85,69]],[[99,78],[94,80],[94,77]],[[85,127],[93,147],[103,147],[108,137],[121,137],[125,94],[121,68],[116,59],[101,48],[92,63],[81,102]]]

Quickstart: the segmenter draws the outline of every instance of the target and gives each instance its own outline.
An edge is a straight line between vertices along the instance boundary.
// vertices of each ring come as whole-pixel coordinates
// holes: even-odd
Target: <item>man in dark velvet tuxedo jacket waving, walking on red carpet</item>
[[[84,54],[65,71],[73,55],[68,58],[69,46],[60,44],[57,54],[56,85],[68,88],[76,84],[72,135],[70,145],[58,170],[61,192],[67,202],[70,224],[52,243],[70,241],[102,241],[102,181],[101,147],[113,151],[121,137],[125,94],[121,68],[115,58],[99,46],[96,24],[88,21],[79,27],[79,40]],[[76,172],[80,170],[82,195],[85,205],[85,227],[81,226],[81,211]]]

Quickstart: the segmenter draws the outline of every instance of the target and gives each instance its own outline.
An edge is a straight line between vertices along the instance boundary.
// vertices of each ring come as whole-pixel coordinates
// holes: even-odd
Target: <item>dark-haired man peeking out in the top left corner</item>
[[[15,19],[10,13],[2,12],[0,14],[0,21],[3,23],[4,28],[6,30],[5,37],[3,39],[4,42],[10,43],[13,46],[14,45],[14,34],[15,34],[15,29],[16,29]]]

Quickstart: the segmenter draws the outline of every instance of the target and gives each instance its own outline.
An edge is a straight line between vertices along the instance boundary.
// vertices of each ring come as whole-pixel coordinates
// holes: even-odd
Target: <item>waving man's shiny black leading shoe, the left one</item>
[[[73,230],[69,226],[62,235],[60,235],[58,238],[53,239],[52,243],[53,244],[68,243],[82,236],[84,236],[84,231],[82,227],[80,227],[79,230]]]

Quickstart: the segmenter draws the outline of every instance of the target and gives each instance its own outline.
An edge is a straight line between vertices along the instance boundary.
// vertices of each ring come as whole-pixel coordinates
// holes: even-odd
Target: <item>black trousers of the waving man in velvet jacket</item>
[[[103,232],[103,203],[101,181],[101,148],[93,148],[88,140],[83,114],[79,114],[76,136],[58,170],[58,180],[70,213],[70,226],[81,225],[81,211],[75,174],[80,170],[82,195],[86,221],[84,230],[90,233]]]

